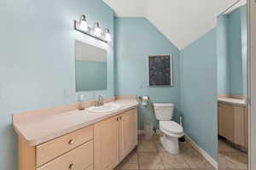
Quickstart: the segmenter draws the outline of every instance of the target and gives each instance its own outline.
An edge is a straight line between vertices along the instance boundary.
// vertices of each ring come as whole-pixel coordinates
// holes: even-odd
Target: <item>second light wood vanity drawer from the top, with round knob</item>
[[[37,170],[91,170],[93,169],[93,140],[50,161]]]

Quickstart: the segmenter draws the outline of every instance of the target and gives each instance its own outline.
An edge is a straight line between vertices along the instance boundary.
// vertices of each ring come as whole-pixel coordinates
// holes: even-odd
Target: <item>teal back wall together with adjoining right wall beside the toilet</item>
[[[185,133],[218,160],[217,29],[181,52],[146,19],[116,18],[114,29],[116,94],[174,103],[175,119],[183,115]],[[147,87],[148,54],[173,54],[172,88]],[[152,105],[140,105],[139,129],[143,122],[154,122],[158,128]]]

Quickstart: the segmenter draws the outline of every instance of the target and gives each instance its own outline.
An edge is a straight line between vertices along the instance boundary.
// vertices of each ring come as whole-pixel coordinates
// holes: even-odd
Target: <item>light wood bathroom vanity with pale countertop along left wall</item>
[[[113,103],[120,108],[104,113],[66,106],[15,114],[19,170],[112,170],[137,146],[138,105]]]

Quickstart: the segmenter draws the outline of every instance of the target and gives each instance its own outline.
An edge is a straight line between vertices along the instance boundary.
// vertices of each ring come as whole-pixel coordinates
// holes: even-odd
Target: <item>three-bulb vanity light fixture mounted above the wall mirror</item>
[[[74,29],[80,31],[90,37],[94,37],[102,42],[110,42],[112,40],[108,28],[102,33],[100,23],[96,22],[92,27],[88,26],[87,18],[84,14],[81,15],[80,20],[74,20]]]

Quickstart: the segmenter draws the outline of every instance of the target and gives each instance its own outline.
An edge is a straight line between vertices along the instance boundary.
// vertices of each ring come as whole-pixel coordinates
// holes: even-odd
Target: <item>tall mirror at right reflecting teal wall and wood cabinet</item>
[[[246,3],[218,16],[218,169],[248,169]]]

